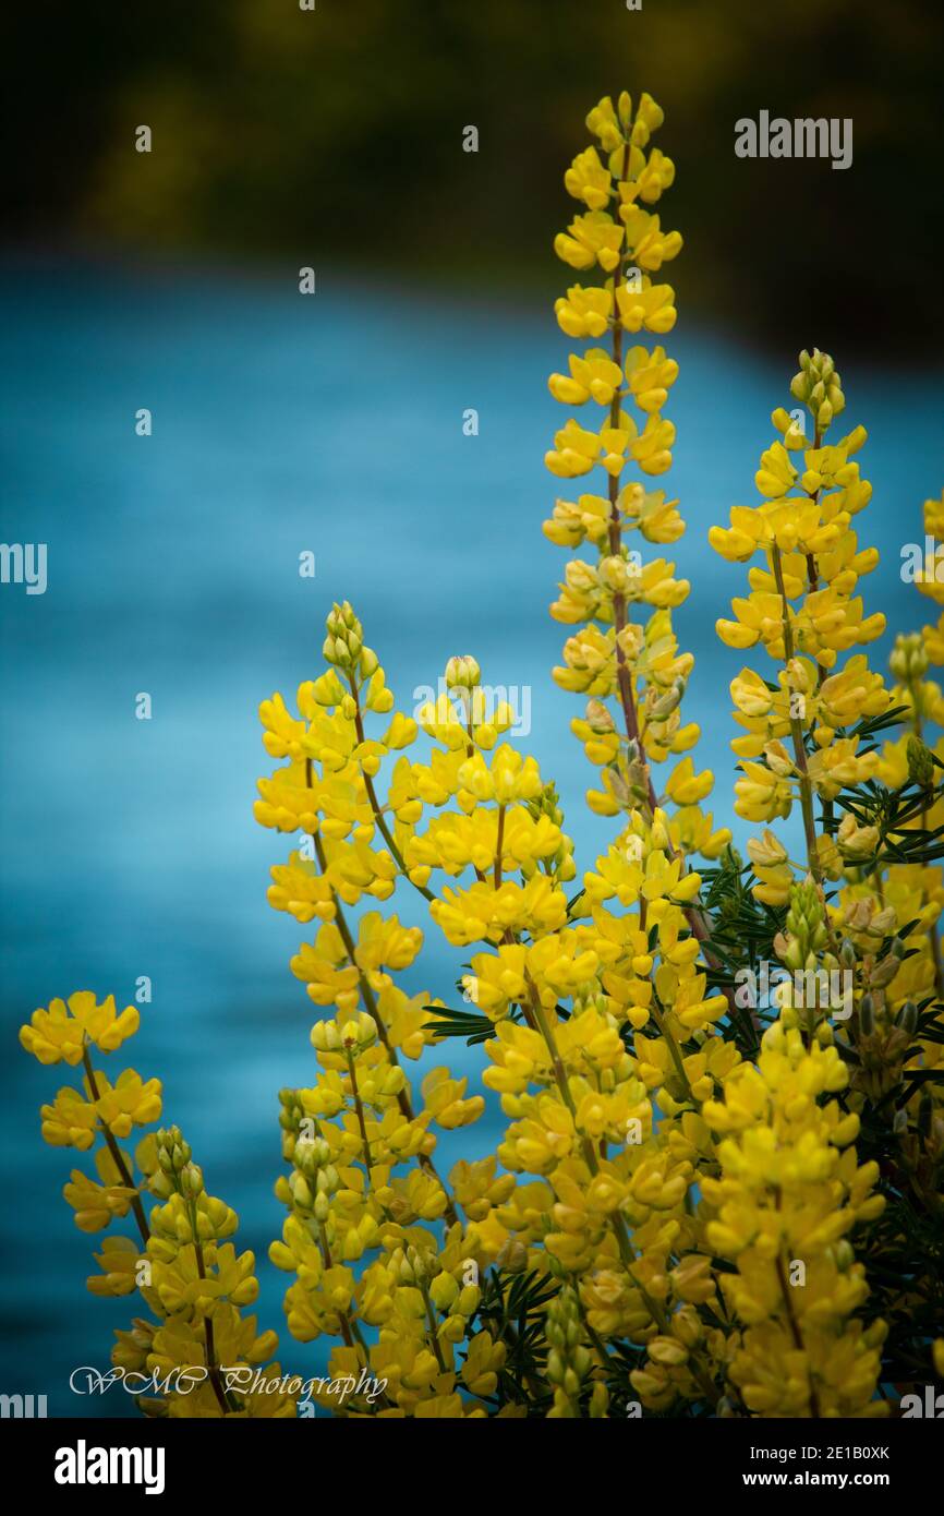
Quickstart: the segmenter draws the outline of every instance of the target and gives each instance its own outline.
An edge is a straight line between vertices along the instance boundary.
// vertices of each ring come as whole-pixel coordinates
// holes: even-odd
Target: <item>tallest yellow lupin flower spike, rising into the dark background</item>
[[[545,462],[562,479],[602,468],[606,493],[559,499],[544,523],[559,546],[595,549],[594,561],[568,562],[552,606],[556,620],[579,626],[555,679],[592,697],[585,717],[573,722],[586,756],[602,770],[602,787],[588,794],[591,808],[617,816],[641,805],[652,814],[650,764],[679,756],[667,785],[679,808],[668,822],[670,846],[717,858],[730,834],[715,831],[699,808],[712,776],[695,775],[691,758],[682,756],[699,737],[694,725],[683,725],[680,709],[694,659],[677,649],[671,611],[689,585],[674,578],[671,561],[644,562],[639,547],[627,543],[635,532],[638,543],[670,546],[685,531],[677,500],[649,487],[671,467],[676,429],[662,412],[679,365],[661,344],[627,343],[639,332],[664,335],[676,321],[674,291],[656,282],[656,274],[677,256],[682,238],[662,232],[659,217],[644,209],[673,183],[674,165],[658,149],[645,152],[662,124],[662,111],[647,94],[635,114],[627,94],[615,108],[608,97],[586,124],[600,149],[579,153],[564,183],[588,211],[556,238],[555,250],[574,268],[597,267],[602,282],[573,285],[555,311],[568,337],[603,338],[606,346],[571,353],[570,373],[552,374],[556,400],[589,406],[595,415],[586,423],[568,420]],[[632,471],[642,478],[630,478]],[[644,625],[632,620],[636,608],[649,612]]]

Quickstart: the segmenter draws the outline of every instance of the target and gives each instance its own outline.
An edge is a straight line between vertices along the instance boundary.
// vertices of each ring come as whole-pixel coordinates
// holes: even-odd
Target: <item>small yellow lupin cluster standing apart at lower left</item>
[[[97,1176],[73,1169],[64,1189],[76,1225],[100,1233],[130,1214],[138,1228],[138,1239],[103,1239],[95,1254],[100,1272],[88,1280],[92,1295],[138,1295],[150,1311],[117,1333],[112,1363],[150,1380],[155,1395],[139,1405],[153,1416],[294,1416],[295,1402],[277,1384],[279,1364],[261,1367],[276,1349],[276,1334],[261,1333],[256,1319],[242,1314],[259,1286],[252,1252],[238,1255],[226,1240],[236,1231],[235,1211],[206,1193],[176,1126],[142,1137],[133,1157],[120,1146],[135,1126],[161,1116],[161,1084],[126,1069],[112,1085],[94,1067],[92,1049],[114,1052],[138,1025],[133,1005],[118,1014],[114,996],[98,1002],[80,990],[35,1011],[20,1029],[23,1048],[39,1063],[83,1069],[82,1088],[59,1090],[41,1113],[42,1135],[53,1148],[86,1152],[98,1143]],[[159,1202],[150,1217],[142,1196]],[[247,1387],[235,1390],[241,1377]]]

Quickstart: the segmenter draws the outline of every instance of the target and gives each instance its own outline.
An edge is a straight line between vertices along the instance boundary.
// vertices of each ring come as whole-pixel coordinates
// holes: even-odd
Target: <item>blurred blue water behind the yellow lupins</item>
[[[592,861],[608,828],[580,805],[588,770],[567,728],[579,702],[550,681],[565,631],[545,612],[564,555],[539,531],[556,493],[542,455],[565,414],[545,376],[567,343],[536,300],[450,303],[332,271],[311,299],[292,270],[253,280],[50,261],[3,274],[2,535],[48,544],[48,588],[0,587],[0,1389],[45,1393],[50,1414],[115,1416],[130,1411],[120,1390],[79,1402],[67,1381],[108,1364],[130,1302],[83,1290],[94,1239],[59,1195],[74,1154],[45,1148],[36,1120],[65,1079],[18,1051],[17,1026],[74,988],[127,1004],[152,976],[132,1061],[161,1075],[165,1119],[241,1213],[259,1316],[282,1330],[288,1280],[265,1257],[283,1216],[276,1092],[314,1076],[312,1007],[288,972],[305,929],[265,904],[286,847],[252,820],[265,769],[256,705],[318,672],[335,597],[356,602],[408,708],[450,653],[474,650],[488,684],[530,687],[524,746],[558,779]],[[796,355],[764,361],[685,321],[670,346],[682,364],[670,479],[688,522],[673,556],[692,582],[676,625],[697,655],[686,714],[705,726],[699,753],[729,814],[727,682],[742,659],[718,644],[714,619],[744,572],[708,550],[706,532],[730,503],[755,502]],[[862,540],[883,562],[868,608],[920,625],[926,602],[899,561],[941,488],[944,376],[844,368],[844,381],[850,424],[871,432]],[[141,406],[150,438],[135,435]],[[477,437],[462,434],[468,406]],[[314,581],[297,570],[306,549]],[[152,694],[150,722],[135,719],[138,691]],[[412,899],[402,916],[423,919]],[[405,982],[456,1004],[465,957],[430,929]],[[477,1088],[480,1052],[449,1055]],[[491,1116],[444,1140],[442,1166],[488,1151],[495,1129]],[[282,1361],[317,1372],[320,1346],[282,1336]]]

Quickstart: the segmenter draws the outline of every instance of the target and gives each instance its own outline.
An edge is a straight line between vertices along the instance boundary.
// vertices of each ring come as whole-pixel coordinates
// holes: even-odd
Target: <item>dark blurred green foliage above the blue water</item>
[[[561,162],[600,94],[645,88],[686,308],[791,349],[939,347],[941,0],[18,0],[3,24],[14,236],[542,299]],[[852,117],[852,168],[736,159],[761,109]]]

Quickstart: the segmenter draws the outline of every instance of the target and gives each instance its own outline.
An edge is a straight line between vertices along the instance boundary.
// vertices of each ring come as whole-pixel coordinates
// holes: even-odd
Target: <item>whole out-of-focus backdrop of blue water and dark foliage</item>
[[[48,544],[48,588],[0,587],[0,1390],[117,1416],[133,1411],[121,1390],[77,1401],[68,1375],[106,1367],[132,1305],[83,1290],[94,1239],[59,1195],[76,1155],[38,1135],[67,1079],[15,1031],[53,996],[126,1004],[153,979],[132,1061],[164,1079],[165,1117],[239,1210],[259,1316],[280,1328],[276,1092],[314,1076],[312,1007],[288,972],[305,929],[265,904],[286,847],[252,820],[255,711],[318,672],[332,599],[355,600],[406,708],[453,652],[527,687],[523,744],[582,861],[605,841],[567,726],[579,702],[550,681],[564,555],[539,531],[565,415],[545,387],[568,346],[550,306],[573,282],[550,244],[600,94],[655,94],[677,164],[659,208],[685,235],[665,482],[688,522],[677,629],[715,813],[730,814],[741,659],[714,620],[742,570],[706,532],[756,499],[802,346],[835,353],[849,421],[871,434],[868,609],[929,619],[899,568],[944,484],[944,15],[935,0],[138,0],[11,8],[3,29],[2,537]],[[761,109],[852,117],[853,167],[736,159],[733,123]],[[423,922],[409,897],[402,916]],[[432,928],[406,987],[459,1004],[464,957]],[[429,1061],[445,1058],[477,1081],[480,1051]],[[489,1111],[442,1142],[442,1166],[497,1126]],[[318,1372],[324,1354],[283,1334],[282,1360]]]

